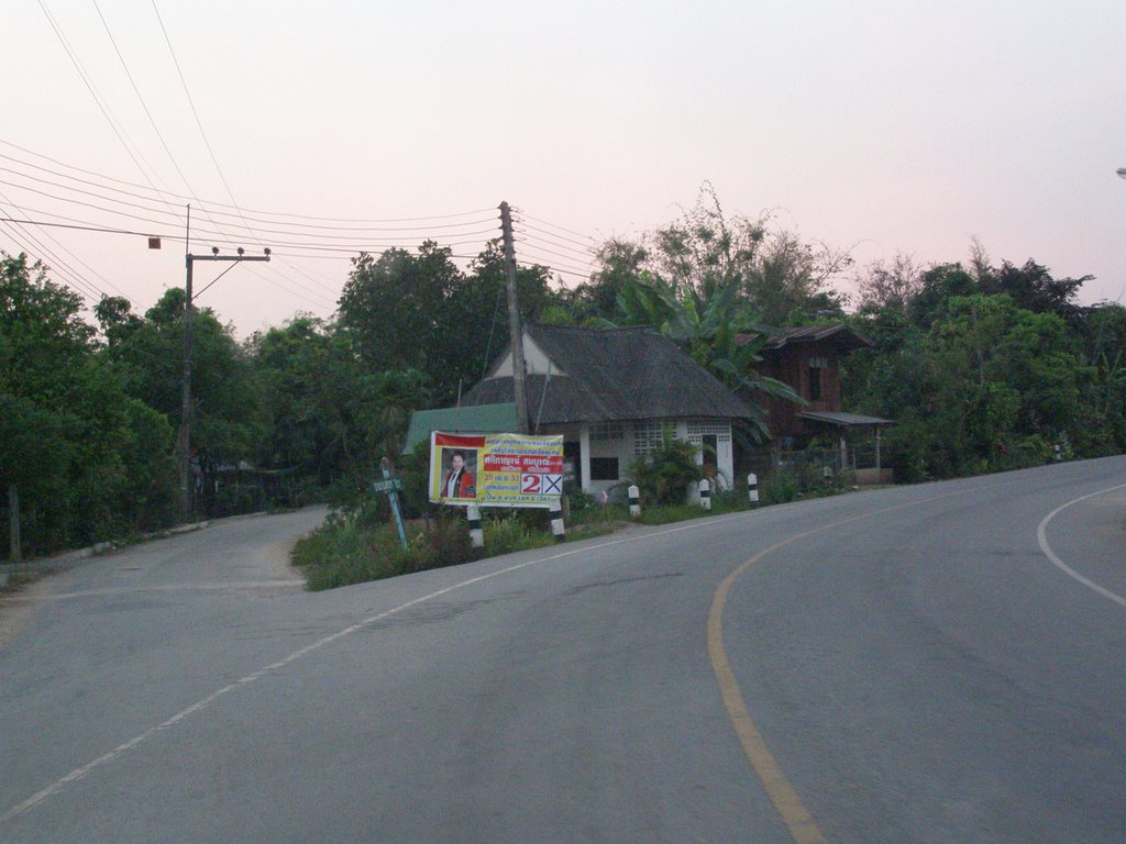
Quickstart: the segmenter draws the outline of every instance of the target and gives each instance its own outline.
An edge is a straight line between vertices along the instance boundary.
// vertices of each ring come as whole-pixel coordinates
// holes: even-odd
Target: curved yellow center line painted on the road
[[[1000,484],[977,487],[977,491],[988,490],[993,486],[1000,486]],[[724,577],[712,599],[712,609],[707,617],[707,650],[712,659],[712,671],[715,673],[716,683],[720,685],[720,697],[723,699],[723,704],[727,709],[727,716],[731,718],[731,725],[735,729],[735,735],[739,737],[739,743],[743,746],[743,752],[747,754],[751,767],[754,769],[754,773],[762,781],[770,802],[774,803],[775,809],[781,816],[783,823],[789,829],[790,837],[794,838],[795,844],[825,844],[825,836],[822,834],[821,828],[813,819],[808,809],[802,803],[802,799],[797,796],[797,791],[790,784],[786,774],[783,773],[770,748],[767,747],[762,734],[759,731],[750,710],[747,708],[743,693],[739,688],[739,681],[735,680],[735,672],[732,671],[731,662],[727,659],[727,650],[723,645],[723,610],[727,603],[727,595],[731,592],[731,587],[756,563],[774,554],[779,548],[805,537],[832,530],[850,522],[891,513],[895,510],[914,508],[921,504],[929,504],[932,501],[965,494],[965,491],[959,490],[944,495],[935,495],[906,504],[896,504],[883,510],[874,510],[870,513],[854,515],[830,524],[823,524],[820,528],[794,533],[779,542],[775,542],[769,548],[765,548],[745,563],[742,563],[735,571]]]

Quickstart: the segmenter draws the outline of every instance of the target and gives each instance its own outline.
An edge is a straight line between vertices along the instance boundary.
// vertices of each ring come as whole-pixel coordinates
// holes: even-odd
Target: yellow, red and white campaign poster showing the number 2
[[[549,508],[563,494],[563,434],[430,434],[430,501]]]

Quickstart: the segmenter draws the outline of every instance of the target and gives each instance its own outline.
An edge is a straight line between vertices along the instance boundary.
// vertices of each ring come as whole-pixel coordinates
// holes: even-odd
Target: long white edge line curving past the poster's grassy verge
[[[197,712],[200,712],[202,710],[206,709],[212,703],[214,703],[216,700],[218,700],[223,695],[225,695],[225,694],[234,691],[235,689],[239,689],[239,688],[245,686],[245,685],[250,685],[251,683],[254,683],[254,682],[261,680],[266,675],[268,675],[268,674],[270,674],[270,673],[272,673],[275,671],[278,671],[280,668],[284,668],[285,666],[289,665],[293,662],[296,662],[301,657],[306,656],[307,654],[311,654],[314,650],[319,650],[320,648],[324,647],[325,645],[329,645],[329,644],[331,644],[333,641],[337,641],[338,639],[342,639],[346,636],[351,636],[354,632],[358,632],[359,630],[363,630],[368,625],[373,625],[376,621],[381,621],[381,620],[383,620],[383,619],[385,619],[385,618],[387,618],[390,616],[395,616],[395,614],[402,612],[403,610],[410,609],[411,607],[417,607],[420,603],[426,603],[427,601],[432,601],[436,598],[441,598],[443,595],[447,595],[450,592],[456,592],[457,590],[465,589],[466,586],[472,586],[475,583],[481,583],[482,581],[492,580],[493,577],[500,577],[501,575],[504,575],[504,574],[511,574],[512,572],[519,571],[521,568],[528,568],[529,566],[536,566],[536,565],[540,565],[543,563],[549,563],[549,562],[555,560],[555,559],[562,559],[563,557],[571,557],[571,556],[573,556],[575,554],[582,554],[582,553],[586,553],[586,551],[592,551],[592,550],[597,550],[599,548],[609,548],[611,546],[623,545],[625,542],[634,542],[634,541],[642,540],[642,539],[651,539],[653,537],[668,536],[669,533],[679,533],[680,531],[683,531],[683,530],[694,530],[694,529],[703,528],[705,526],[714,526],[714,524],[716,524],[716,523],[718,523],[721,521],[730,521],[732,519],[744,518],[744,517],[749,515],[750,513],[756,513],[756,512],[758,512],[758,511],[757,510],[751,510],[751,511],[744,511],[744,512],[739,512],[739,513],[731,513],[730,515],[714,517],[712,519],[694,519],[692,521],[688,522],[687,524],[680,524],[680,526],[674,527],[674,528],[667,528],[665,530],[658,530],[658,531],[654,531],[652,533],[645,533],[643,536],[623,537],[620,539],[613,539],[613,540],[610,540],[608,542],[599,542],[598,545],[583,546],[582,548],[573,548],[571,550],[561,551],[558,554],[552,554],[552,555],[549,555],[547,557],[538,557],[536,559],[530,559],[530,560],[528,560],[526,563],[518,563],[516,565],[508,566],[506,568],[500,568],[500,569],[498,569],[495,572],[490,572],[489,574],[482,574],[482,575],[479,575],[476,577],[471,577],[467,581],[462,581],[461,583],[455,583],[452,586],[446,586],[445,589],[440,589],[437,592],[431,592],[428,595],[422,595],[421,598],[415,598],[413,600],[406,601],[405,603],[401,603],[397,607],[394,607],[394,608],[392,608],[390,610],[384,610],[383,612],[381,612],[381,613],[378,613],[376,616],[372,616],[370,618],[366,618],[363,621],[358,621],[357,623],[352,625],[351,627],[346,627],[343,630],[338,630],[337,632],[331,634],[330,636],[325,636],[323,639],[319,639],[319,640],[314,641],[311,645],[306,645],[305,647],[301,648],[300,650],[295,650],[294,653],[289,654],[284,659],[280,659],[280,661],[278,661],[276,663],[272,663],[272,664],[267,665],[267,666],[265,666],[262,668],[259,668],[258,671],[253,672],[252,674],[248,674],[247,676],[241,677],[241,679],[234,681],[230,685],[225,685],[222,689],[220,689],[218,691],[212,692],[206,698],[203,698],[202,700],[196,701],[195,703],[193,703],[191,706],[187,707],[186,709],[180,710],[179,712],[177,712],[176,715],[173,715],[171,718],[169,718],[167,721],[163,721],[162,724],[159,724],[155,727],[150,727],[144,733],[141,733],[140,735],[134,736],[129,740],[124,742],[123,744],[117,745],[117,747],[115,747],[114,749],[109,751],[108,753],[105,753],[101,756],[98,756],[98,758],[93,760],[92,762],[89,762],[89,763],[82,765],[81,767],[78,767],[78,769],[71,771],[69,774],[66,774],[65,776],[63,776],[63,778],[56,780],[55,782],[51,783],[50,785],[47,785],[43,790],[35,792],[34,794],[32,794],[29,798],[27,798],[23,802],[17,803],[16,806],[11,807],[7,811],[5,811],[2,815],[0,815],[0,824],[6,824],[9,820],[11,820],[12,818],[16,818],[19,815],[23,815],[28,809],[35,808],[36,806],[38,806],[39,803],[42,803],[47,798],[50,798],[53,794],[56,794],[60,791],[62,791],[70,783],[77,782],[78,780],[81,780],[83,776],[86,776],[87,774],[89,774],[91,771],[93,771],[93,770],[96,770],[98,767],[101,767],[102,765],[109,764],[110,762],[113,762],[114,760],[116,760],[118,756],[120,756],[123,753],[126,753],[127,751],[133,749],[134,747],[136,747],[137,745],[146,742],[149,738],[151,738],[152,736],[157,735],[158,733],[162,733],[162,731],[164,731],[167,729],[171,729],[172,727],[175,727],[176,725],[178,725],[180,721],[184,721],[187,718],[190,718],[191,716],[196,715]]]

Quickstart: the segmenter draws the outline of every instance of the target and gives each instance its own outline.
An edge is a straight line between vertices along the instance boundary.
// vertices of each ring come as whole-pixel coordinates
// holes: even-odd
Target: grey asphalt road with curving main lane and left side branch
[[[1126,841],[1126,458],[311,594],[319,515],[19,605],[0,841]]]

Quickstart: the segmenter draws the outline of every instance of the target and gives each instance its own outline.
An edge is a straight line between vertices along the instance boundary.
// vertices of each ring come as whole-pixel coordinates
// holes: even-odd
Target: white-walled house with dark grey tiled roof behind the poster
[[[721,486],[734,484],[732,429],[754,412],[659,332],[527,323],[524,357],[529,429],[563,434],[575,487],[597,494],[618,486],[665,432],[699,446],[698,459]],[[450,425],[462,432],[504,430],[484,425],[515,421],[512,372],[507,350],[457,408],[415,413],[406,448]]]

